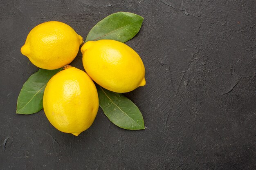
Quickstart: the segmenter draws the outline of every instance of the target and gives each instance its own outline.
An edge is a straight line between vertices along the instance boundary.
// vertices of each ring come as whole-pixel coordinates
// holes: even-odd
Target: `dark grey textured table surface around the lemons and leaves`
[[[29,31],[56,20],[86,38],[118,11],[145,18],[126,44],[141,56],[147,84],[126,96],[146,129],[121,129],[99,109],[75,137],[43,110],[16,114],[20,89],[38,70],[20,53]],[[1,1],[0,170],[255,169],[255,12],[254,0]],[[81,59],[71,65],[83,69]]]

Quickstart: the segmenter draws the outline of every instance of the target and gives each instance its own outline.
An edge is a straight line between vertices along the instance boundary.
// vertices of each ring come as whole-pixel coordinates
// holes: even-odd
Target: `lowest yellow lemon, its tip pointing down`
[[[97,89],[84,71],[65,66],[47,83],[43,107],[55,128],[78,136],[92,125],[97,115]]]

